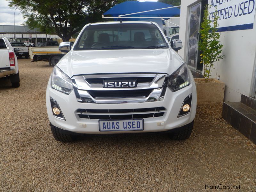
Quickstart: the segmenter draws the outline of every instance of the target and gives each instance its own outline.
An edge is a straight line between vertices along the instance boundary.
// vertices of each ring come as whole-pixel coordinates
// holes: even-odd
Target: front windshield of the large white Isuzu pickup
[[[169,46],[156,25],[118,23],[86,27],[74,50],[159,48],[169,48]]]

